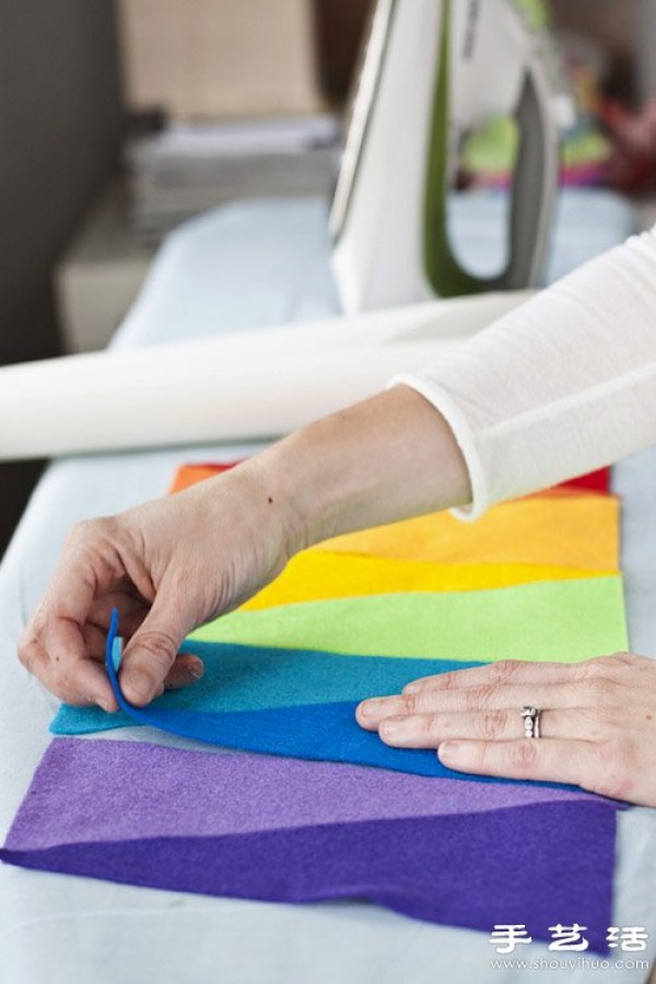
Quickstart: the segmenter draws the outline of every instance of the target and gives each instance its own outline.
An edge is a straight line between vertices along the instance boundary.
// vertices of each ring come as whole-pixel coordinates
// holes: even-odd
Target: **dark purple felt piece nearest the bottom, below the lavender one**
[[[524,924],[536,939],[550,939],[548,929],[557,923],[577,922],[588,927],[591,949],[604,951],[614,832],[616,811],[606,804],[561,801],[224,836],[46,850],[16,845],[0,857],[30,868],[212,895],[367,899],[485,933],[497,923]]]

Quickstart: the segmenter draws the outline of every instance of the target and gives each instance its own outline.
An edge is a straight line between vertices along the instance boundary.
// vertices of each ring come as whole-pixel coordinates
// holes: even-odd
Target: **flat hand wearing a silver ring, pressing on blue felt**
[[[541,708],[524,737],[522,708]],[[361,703],[358,722],[397,748],[436,748],[448,769],[572,783],[656,807],[656,659],[505,660]]]

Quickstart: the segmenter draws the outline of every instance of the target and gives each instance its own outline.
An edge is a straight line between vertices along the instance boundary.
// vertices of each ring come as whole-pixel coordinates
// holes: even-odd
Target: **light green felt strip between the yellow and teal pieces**
[[[619,575],[234,611],[191,639],[362,656],[562,663],[629,645]]]

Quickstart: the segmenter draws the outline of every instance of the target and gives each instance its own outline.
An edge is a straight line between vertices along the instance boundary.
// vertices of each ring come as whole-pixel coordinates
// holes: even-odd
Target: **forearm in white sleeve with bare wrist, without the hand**
[[[656,441],[654,312],[653,232],[279,442],[244,477],[293,553],[433,509],[477,516],[610,464]]]

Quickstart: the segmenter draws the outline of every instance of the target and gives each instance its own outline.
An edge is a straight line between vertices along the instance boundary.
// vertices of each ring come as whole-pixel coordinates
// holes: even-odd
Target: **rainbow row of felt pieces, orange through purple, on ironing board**
[[[195,633],[185,648],[206,677],[145,708],[122,699],[110,633],[122,710],[62,706],[52,730],[151,724],[207,750],[56,738],[2,857],[178,891],[366,898],[487,933],[518,922],[536,939],[577,921],[604,951],[619,804],[449,772],[360,729],[354,707],[481,660],[625,647],[618,557],[618,502],[585,490],[472,526],[433,515],[336,538]]]

